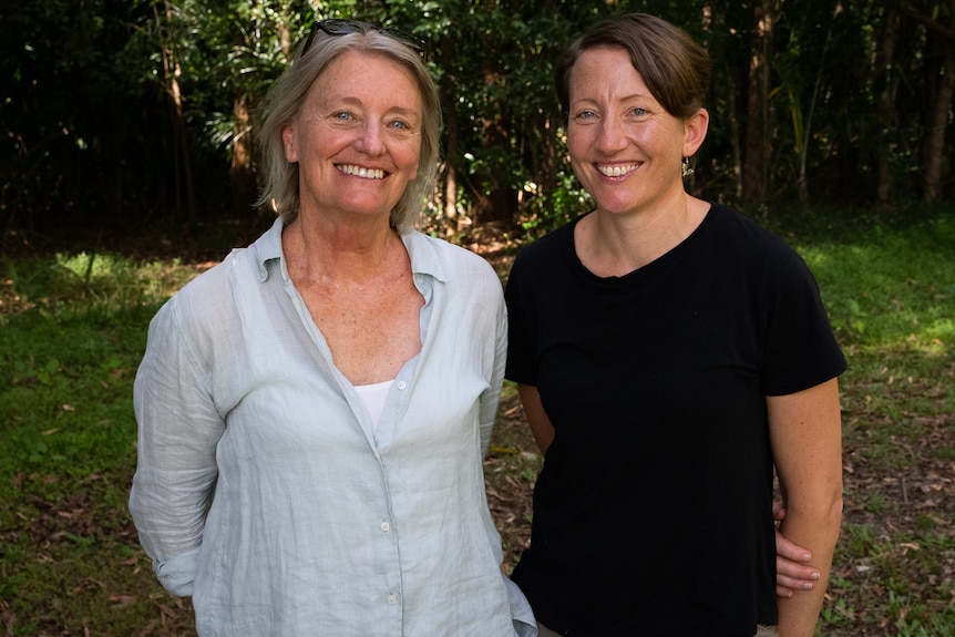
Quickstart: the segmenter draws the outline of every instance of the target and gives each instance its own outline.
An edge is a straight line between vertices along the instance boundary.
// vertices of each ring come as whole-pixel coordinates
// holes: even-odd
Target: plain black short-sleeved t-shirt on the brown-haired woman
[[[506,289],[506,377],[556,430],[513,578],[572,637],[751,637],[777,621],[766,397],[845,369],[815,280],[720,205],[623,277],[583,266],[575,225]]]

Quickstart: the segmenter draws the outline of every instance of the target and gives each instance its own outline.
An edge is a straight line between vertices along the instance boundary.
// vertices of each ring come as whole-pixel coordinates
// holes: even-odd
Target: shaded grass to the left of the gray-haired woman
[[[131,395],[150,318],[193,274],[88,255],[3,264],[7,635],[175,634],[162,626],[162,606],[182,603],[153,581],[126,512],[136,453]]]

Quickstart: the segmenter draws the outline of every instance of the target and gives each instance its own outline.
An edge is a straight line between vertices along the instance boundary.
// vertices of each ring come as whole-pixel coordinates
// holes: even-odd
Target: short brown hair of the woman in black
[[[670,115],[686,120],[704,106],[710,84],[706,50],[666,20],[627,13],[591,27],[558,60],[554,80],[565,116],[571,107],[571,70],[584,51],[596,47],[625,50],[650,93]]]

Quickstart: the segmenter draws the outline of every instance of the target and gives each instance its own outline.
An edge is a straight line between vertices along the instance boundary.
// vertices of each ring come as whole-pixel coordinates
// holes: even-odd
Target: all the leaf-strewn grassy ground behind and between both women
[[[846,512],[819,635],[955,635],[955,212],[920,216],[762,219],[812,266],[850,361]],[[146,323],[207,265],[116,255],[0,263],[0,634],[194,635],[125,502]],[[487,256],[506,273],[506,251]],[[500,415],[485,469],[513,564],[541,458],[511,387]]]

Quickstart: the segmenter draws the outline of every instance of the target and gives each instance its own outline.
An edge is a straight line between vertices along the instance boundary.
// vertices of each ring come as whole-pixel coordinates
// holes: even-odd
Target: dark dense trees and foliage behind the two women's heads
[[[546,229],[586,207],[551,72],[588,23],[656,13],[713,59],[698,194],[947,199],[955,2],[941,0],[32,0],[0,3],[0,233],[248,218],[256,107],[317,18],[413,31],[445,111],[431,224]]]

